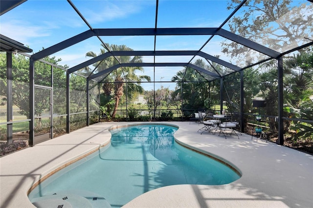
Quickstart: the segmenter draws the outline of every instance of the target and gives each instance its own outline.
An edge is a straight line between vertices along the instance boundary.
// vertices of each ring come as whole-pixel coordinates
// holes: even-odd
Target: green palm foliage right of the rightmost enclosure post
[[[312,120],[313,118],[313,52],[305,48],[284,59],[284,101],[285,114],[292,118]],[[293,141],[313,138],[313,125],[305,122],[289,122],[296,132]]]

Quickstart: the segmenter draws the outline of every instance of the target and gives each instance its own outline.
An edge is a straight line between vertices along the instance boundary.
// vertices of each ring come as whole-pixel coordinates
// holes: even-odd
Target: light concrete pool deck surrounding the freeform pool
[[[140,195],[125,208],[284,208],[313,207],[313,155],[285,146],[239,138],[198,133],[203,124],[160,122],[178,125],[180,143],[223,158],[242,177],[222,186],[176,185]],[[128,123],[98,123],[0,158],[0,207],[34,207],[29,188],[60,166],[110,142],[108,129]],[[136,123],[141,124],[141,123]],[[153,124],[153,123],[152,123]],[[105,197],[105,196],[104,196]]]

